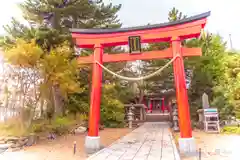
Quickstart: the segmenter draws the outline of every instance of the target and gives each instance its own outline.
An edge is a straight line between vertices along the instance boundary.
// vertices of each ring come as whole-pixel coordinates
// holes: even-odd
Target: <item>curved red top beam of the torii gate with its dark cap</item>
[[[140,36],[141,43],[170,41],[172,37],[181,39],[196,38],[204,28],[210,12],[195,15],[182,20],[119,29],[71,29],[76,45],[81,48],[93,48],[96,44],[104,47],[126,45],[129,36]]]

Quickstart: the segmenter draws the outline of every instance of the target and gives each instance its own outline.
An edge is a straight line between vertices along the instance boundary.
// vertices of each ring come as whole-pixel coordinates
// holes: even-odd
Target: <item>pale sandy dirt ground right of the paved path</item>
[[[198,150],[201,149],[201,160],[239,160],[239,135],[212,134],[194,131]],[[185,157],[183,160],[199,160],[199,153]]]

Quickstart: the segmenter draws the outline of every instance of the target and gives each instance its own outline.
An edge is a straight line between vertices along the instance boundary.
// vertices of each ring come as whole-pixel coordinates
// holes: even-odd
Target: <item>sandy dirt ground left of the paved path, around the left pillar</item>
[[[100,131],[101,144],[108,146],[132,130],[128,128],[108,129]],[[56,140],[44,140],[35,146],[22,151],[7,152],[0,155],[1,160],[84,160],[87,155],[84,151],[85,134],[67,135]],[[73,144],[77,143],[77,152],[73,155]],[[2,156],[2,157],[1,157]]]

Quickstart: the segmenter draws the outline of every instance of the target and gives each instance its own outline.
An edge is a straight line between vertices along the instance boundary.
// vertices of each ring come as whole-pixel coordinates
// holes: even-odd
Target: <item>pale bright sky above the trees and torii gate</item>
[[[21,18],[17,3],[23,0],[8,0],[0,5],[0,34],[4,34],[1,26],[10,22],[11,17]],[[168,12],[176,7],[188,16],[211,11],[206,30],[220,34],[230,47],[230,36],[234,49],[240,50],[240,15],[239,0],[104,0],[113,4],[122,4],[118,13],[123,27],[156,24],[167,21]]]

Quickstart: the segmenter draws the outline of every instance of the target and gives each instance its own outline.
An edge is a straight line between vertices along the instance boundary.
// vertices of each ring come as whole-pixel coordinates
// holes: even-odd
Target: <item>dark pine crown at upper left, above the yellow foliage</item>
[[[1,46],[6,47],[21,38],[37,43],[50,51],[65,40],[71,42],[69,28],[116,28],[121,23],[116,15],[121,5],[105,5],[101,0],[25,0],[20,4],[26,26],[12,18],[4,26],[8,33]]]

